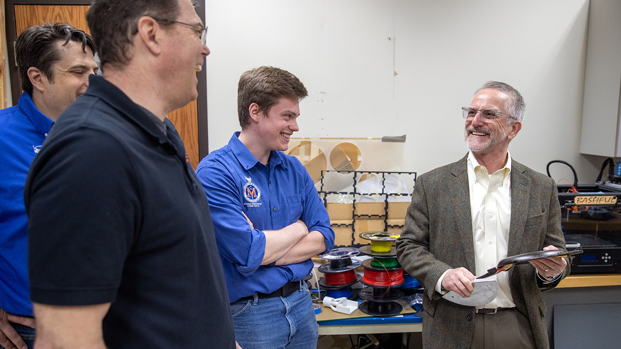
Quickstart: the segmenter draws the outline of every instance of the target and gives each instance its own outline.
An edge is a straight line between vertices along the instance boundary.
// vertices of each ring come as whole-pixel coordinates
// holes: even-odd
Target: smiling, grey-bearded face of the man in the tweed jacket
[[[470,107],[479,111],[483,109],[493,109],[507,112],[507,103],[509,102],[509,94],[497,89],[484,89],[477,93]],[[512,140],[520,129],[517,120],[509,120],[507,125],[507,116],[499,115],[493,120],[481,119],[481,113],[477,113],[471,120],[466,120],[464,138],[466,145],[473,153],[497,153],[502,155],[507,152],[509,142]]]

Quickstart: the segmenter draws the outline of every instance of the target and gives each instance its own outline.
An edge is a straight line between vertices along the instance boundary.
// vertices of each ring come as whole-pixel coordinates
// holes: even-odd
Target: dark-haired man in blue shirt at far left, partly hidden
[[[28,168],[53,122],[97,73],[93,40],[63,22],[28,27],[15,49],[24,93],[17,106],[0,111],[0,347],[7,349],[34,342],[24,209]]]

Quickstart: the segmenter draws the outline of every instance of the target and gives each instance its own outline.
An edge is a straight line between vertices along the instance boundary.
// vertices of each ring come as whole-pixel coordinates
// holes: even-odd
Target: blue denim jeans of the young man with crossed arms
[[[302,283],[289,297],[231,303],[235,340],[243,349],[316,349],[319,326]]]

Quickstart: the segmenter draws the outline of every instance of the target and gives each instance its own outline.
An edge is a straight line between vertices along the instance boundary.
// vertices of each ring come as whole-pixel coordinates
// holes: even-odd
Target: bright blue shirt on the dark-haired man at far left
[[[0,307],[18,315],[32,315],[24,183],[52,124],[27,92],[0,111]]]

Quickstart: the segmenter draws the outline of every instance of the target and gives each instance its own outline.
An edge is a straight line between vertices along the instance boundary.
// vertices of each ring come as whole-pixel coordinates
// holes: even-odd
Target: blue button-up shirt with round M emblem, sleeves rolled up
[[[268,165],[263,165],[238,135],[235,132],[228,145],[207,155],[196,168],[209,199],[231,302],[255,292],[276,291],[311,272],[310,259],[286,266],[261,266],[263,230],[283,229],[301,219],[309,232],[317,230],[324,235],[327,251],[334,246],[330,218],[300,161],[273,151]],[[242,212],[255,229],[250,229]]]

